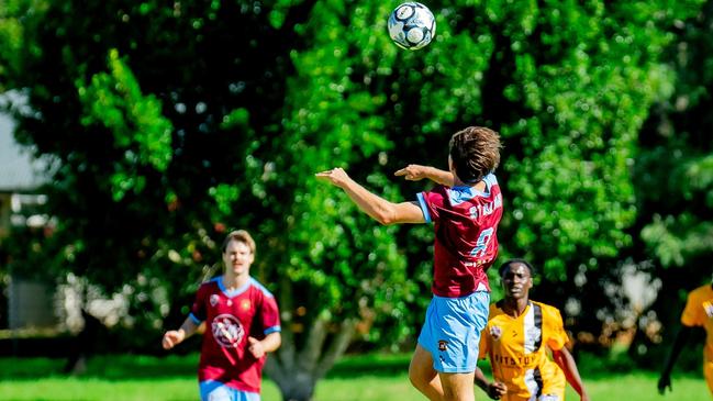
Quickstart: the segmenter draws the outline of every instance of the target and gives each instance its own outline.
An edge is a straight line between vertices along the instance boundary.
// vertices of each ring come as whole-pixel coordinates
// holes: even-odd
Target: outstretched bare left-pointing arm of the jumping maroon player
[[[381,224],[425,222],[416,202],[390,202],[357,183],[343,168],[321,171],[315,177],[342,188],[364,213]]]

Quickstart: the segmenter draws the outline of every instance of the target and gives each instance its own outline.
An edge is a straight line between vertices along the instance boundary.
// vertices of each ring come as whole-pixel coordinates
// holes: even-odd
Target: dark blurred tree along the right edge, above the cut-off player
[[[655,350],[636,355],[644,363],[664,360],[673,327],[680,324],[686,293],[710,282],[713,274],[712,21],[711,1],[677,21],[666,56],[676,73],[675,87],[670,97],[653,107],[639,135],[633,181],[640,216],[635,230],[642,238],[639,257],[653,261],[651,272],[662,285],[646,311],[660,328],[635,344]],[[667,347],[656,347],[664,339]],[[690,355],[689,366],[698,369],[700,354]]]

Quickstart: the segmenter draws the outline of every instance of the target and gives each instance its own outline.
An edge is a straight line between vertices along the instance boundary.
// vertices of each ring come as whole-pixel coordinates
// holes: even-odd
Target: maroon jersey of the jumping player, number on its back
[[[490,291],[486,270],[498,256],[502,194],[493,174],[483,181],[484,192],[436,186],[417,196],[426,223],[434,223],[433,293],[438,297]]]

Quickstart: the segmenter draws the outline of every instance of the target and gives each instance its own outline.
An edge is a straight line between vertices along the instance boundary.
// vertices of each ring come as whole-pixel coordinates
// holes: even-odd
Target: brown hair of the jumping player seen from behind
[[[465,183],[480,181],[500,164],[500,134],[483,126],[458,131],[448,147],[456,175]]]

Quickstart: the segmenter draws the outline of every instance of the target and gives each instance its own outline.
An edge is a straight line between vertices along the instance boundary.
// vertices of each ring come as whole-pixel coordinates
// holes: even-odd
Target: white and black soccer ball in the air
[[[389,15],[389,36],[399,47],[416,51],[436,34],[436,20],[427,7],[417,2],[405,2]]]

